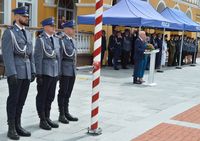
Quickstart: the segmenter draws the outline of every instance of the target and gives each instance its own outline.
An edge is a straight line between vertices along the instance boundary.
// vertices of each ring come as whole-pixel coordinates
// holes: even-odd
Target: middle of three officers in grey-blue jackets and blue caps
[[[60,72],[60,44],[59,39],[54,36],[54,18],[44,19],[41,24],[43,32],[36,39],[34,54],[38,91],[36,108],[40,118],[39,127],[51,130],[59,126],[50,119],[50,110]]]

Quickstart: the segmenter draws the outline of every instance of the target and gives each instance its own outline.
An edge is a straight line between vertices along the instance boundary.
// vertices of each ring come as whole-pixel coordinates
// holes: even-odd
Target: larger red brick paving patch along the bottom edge
[[[161,123],[132,141],[199,141],[200,129]]]

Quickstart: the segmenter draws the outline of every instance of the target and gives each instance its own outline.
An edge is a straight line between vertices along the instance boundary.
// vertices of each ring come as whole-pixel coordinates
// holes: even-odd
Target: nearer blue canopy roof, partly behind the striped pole
[[[94,14],[78,16],[78,24],[94,23]],[[104,11],[103,24],[183,30],[181,23],[164,18],[149,3],[140,0],[121,0]]]

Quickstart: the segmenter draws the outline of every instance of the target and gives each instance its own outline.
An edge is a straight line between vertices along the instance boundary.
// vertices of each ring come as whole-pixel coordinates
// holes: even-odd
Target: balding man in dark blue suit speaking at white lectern
[[[146,49],[146,33],[145,31],[139,31],[139,37],[135,41],[135,55],[134,55],[134,74],[133,83],[142,84],[141,76],[144,62],[144,52]]]

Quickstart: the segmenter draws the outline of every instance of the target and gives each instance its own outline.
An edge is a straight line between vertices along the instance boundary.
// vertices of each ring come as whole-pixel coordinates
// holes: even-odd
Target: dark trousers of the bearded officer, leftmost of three
[[[30,80],[18,79],[16,84],[12,84],[9,77],[7,79],[9,96],[7,98],[8,121],[21,117],[22,109],[25,104]]]

